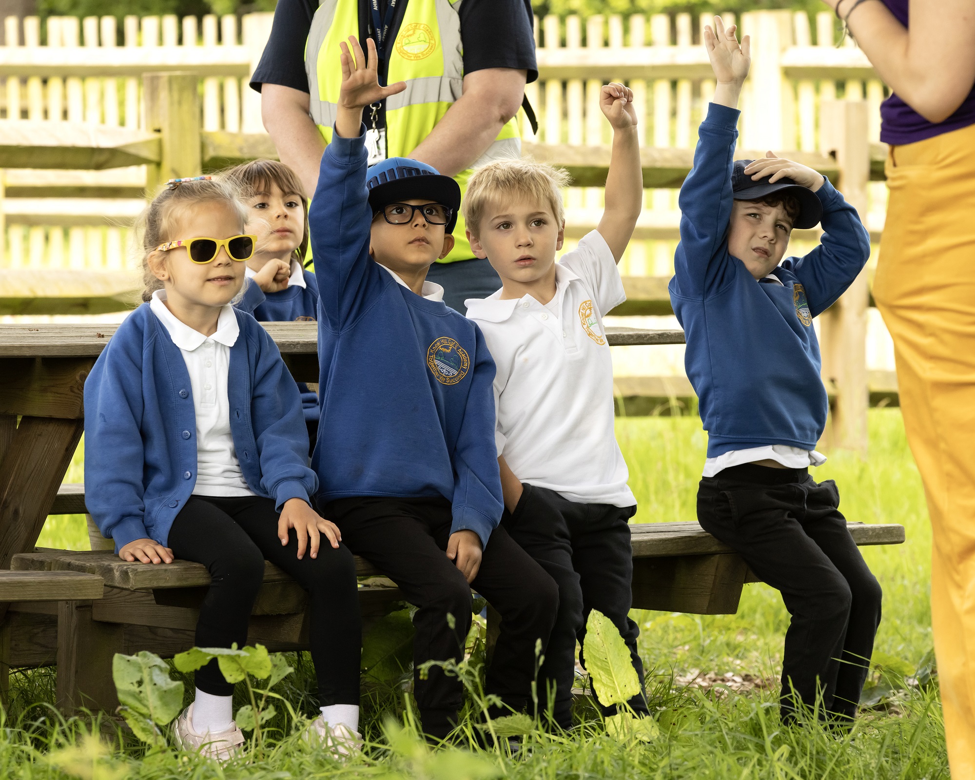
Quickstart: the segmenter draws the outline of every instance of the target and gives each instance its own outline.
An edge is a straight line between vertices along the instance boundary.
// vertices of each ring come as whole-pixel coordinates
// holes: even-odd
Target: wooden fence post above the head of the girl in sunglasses
[[[143,73],[145,94],[143,126],[162,135],[161,160],[149,166],[146,191],[170,178],[200,176],[200,93],[193,73]]]

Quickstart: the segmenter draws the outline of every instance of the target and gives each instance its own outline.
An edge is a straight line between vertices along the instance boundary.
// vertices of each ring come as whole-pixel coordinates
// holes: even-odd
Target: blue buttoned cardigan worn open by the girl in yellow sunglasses
[[[308,432],[281,353],[254,317],[237,312],[230,348],[230,432],[241,472],[280,510],[318,487],[305,464]],[[196,485],[196,412],[189,372],[169,331],[143,303],[126,318],[85,381],[85,504],[115,551],[165,545]]]

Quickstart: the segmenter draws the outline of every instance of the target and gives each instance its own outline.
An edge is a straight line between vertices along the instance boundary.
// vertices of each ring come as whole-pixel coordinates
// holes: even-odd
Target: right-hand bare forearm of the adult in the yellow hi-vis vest
[[[522,105],[527,73],[489,67],[464,76],[464,92],[410,157],[454,176],[487,151]]]

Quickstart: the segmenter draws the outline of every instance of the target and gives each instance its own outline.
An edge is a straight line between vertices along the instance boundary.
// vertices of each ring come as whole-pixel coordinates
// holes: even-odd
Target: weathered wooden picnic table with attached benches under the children
[[[318,380],[314,323],[266,323],[298,381]],[[84,430],[84,383],[118,326],[0,325],[0,693],[11,666],[58,665],[58,703],[111,709],[115,652],[172,655],[193,644],[206,568],[130,564],[110,551],[39,550],[50,514],[85,512],[84,487],[63,485]],[[683,343],[683,331],[607,328],[610,345]],[[18,419],[20,418],[20,424]],[[857,544],[897,544],[903,526],[850,524]],[[634,607],[731,613],[755,581],[739,556],[697,523],[632,526]],[[357,559],[368,624],[403,596]],[[2,569],[14,569],[2,571]],[[100,597],[100,598],[99,598]],[[249,643],[307,647],[305,594],[267,564]],[[496,619],[488,611],[488,634]]]

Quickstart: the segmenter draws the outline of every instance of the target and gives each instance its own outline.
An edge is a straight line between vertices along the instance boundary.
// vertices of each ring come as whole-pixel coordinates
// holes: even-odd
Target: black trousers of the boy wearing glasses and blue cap
[[[487,541],[471,585],[445,555],[452,517],[445,498],[342,498],[322,507],[356,554],[377,566],[417,609],[413,615],[413,694],[423,730],[447,736],[463,702],[461,683],[439,668],[421,680],[420,664],[463,658],[471,627],[471,588],[501,615],[501,634],[487,670],[487,694],[516,712],[526,709],[535,672],[535,643],[548,642],[559,590],[503,527]],[[448,625],[448,614],[454,624]],[[492,708],[491,717],[510,715]]]

